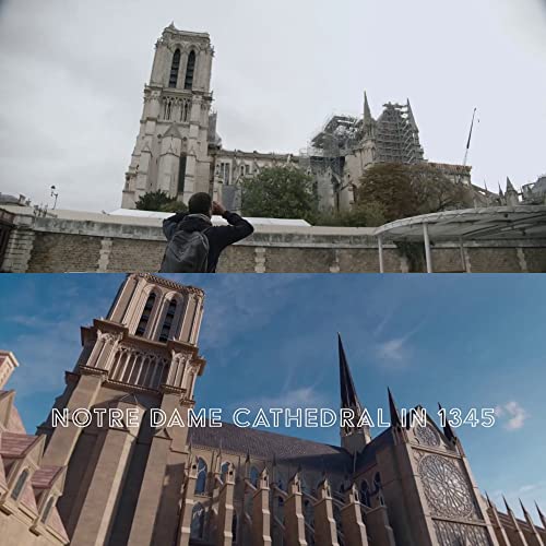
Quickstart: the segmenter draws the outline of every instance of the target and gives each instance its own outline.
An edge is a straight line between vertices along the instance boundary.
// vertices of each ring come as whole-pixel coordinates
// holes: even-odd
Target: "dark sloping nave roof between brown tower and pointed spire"
[[[302,440],[292,436],[268,432],[254,428],[241,428],[230,423],[222,427],[193,427],[189,431],[192,444],[206,448],[221,448],[225,451],[273,460],[280,464],[313,467],[330,472],[351,472],[353,458],[342,448]]]

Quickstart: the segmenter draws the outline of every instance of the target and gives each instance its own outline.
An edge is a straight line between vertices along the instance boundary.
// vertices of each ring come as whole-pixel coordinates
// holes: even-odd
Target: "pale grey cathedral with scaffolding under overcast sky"
[[[332,116],[298,154],[224,149],[212,110],[213,55],[209,34],[174,24],[157,40],[122,207],[134,209],[142,195],[161,190],[185,203],[195,191],[209,192],[238,210],[244,178],[290,164],[312,177],[321,210],[348,210],[368,166],[426,162],[410,100],[385,104],[375,119],[366,94],[361,117]],[[450,180],[471,185],[471,167],[427,163]],[[484,201],[489,193],[475,199]]]

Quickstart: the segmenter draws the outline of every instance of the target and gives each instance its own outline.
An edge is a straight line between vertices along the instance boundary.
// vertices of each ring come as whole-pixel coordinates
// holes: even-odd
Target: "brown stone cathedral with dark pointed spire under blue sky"
[[[127,276],[54,407],[133,408],[139,425],[95,418],[26,434],[0,390],[0,543],[63,545],[544,546],[542,526],[484,498],[454,430],[401,423],[341,444],[239,428],[152,427],[152,408],[185,418],[205,371],[204,294],[150,274]],[[0,389],[17,367],[0,352]],[[209,373],[214,373],[211,363]],[[339,341],[342,407],[363,412]]]

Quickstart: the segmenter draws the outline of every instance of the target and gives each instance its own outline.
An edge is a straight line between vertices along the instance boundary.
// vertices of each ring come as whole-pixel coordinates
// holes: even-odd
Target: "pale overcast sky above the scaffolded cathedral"
[[[139,130],[154,44],[209,32],[224,146],[294,152],[366,88],[410,97],[430,161],[473,181],[546,171],[545,0],[0,0],[0,191],[111,211]]]

